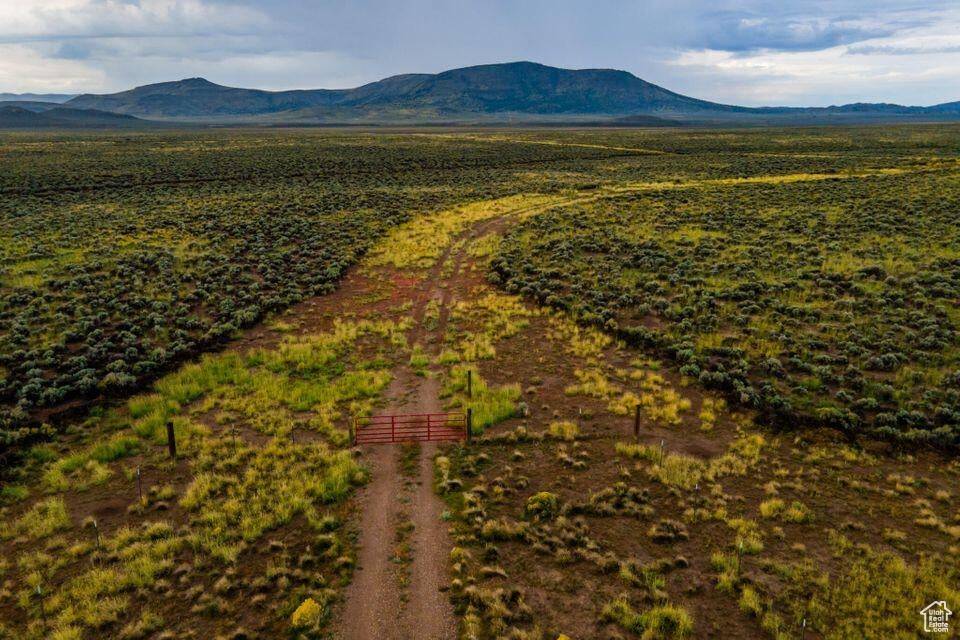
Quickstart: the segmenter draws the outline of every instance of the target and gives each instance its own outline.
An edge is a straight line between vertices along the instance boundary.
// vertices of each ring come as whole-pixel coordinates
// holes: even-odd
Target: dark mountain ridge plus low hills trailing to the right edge
[[[604,121],[656,126],[663,120],[806,124],[960,119],[956,102],[933,107],[738,107],[681,95],[626,71],[559,69],[533,62],[406,74],[355,89],[262,91],[190,78],[108,95],[85,94],[66,104],[154,120],[253,124]]]

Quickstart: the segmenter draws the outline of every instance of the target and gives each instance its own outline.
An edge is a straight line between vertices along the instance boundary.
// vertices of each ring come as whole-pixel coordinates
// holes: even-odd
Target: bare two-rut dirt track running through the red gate
[[[441,286],[443,270],[454,242],[430,269],[420,290],[414,293],[414,327],[408,342],[420,343],[430,356],[439,353],[450,302],[449,286]],[[459,253],[459,252],[458,252]],[[453,275],[459,268],[459,257]],[[449,284],[449,283],[447,283]],[[444,322],[432,333],[424,324],[431,300],[441,304]],[[429,340],[428,340],[429,338]],[[427,344],[424,344],[427,343]],[[439,413],[440,384],[435,376],[416,376],[410,367],[394,370],[386,393],[387,413]],[[399,469],[400,449],[367,447],[364,458],[371,481],[360,497],[360,550],[358,568],[346,592],[346,604],[335,637],[343,640],[448,640],[456,635],[453,608],[442,591],[446,585],[447,557],[452,546],[441,515],[443,502],[433,491],[433,458],[436,443],[423,443],[417,462],[417,480],[402,504],[404,479]],[[413,523],[410,584],[404,598],[391,562],[396,526],[404,518]]]

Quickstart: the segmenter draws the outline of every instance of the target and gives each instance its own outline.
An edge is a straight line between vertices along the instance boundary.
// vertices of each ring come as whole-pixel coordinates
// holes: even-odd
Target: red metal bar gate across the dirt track
[[[354,444],[393,442],[450,442],[467,438],[467,416],[462,413],[416,413],[353,419]]]

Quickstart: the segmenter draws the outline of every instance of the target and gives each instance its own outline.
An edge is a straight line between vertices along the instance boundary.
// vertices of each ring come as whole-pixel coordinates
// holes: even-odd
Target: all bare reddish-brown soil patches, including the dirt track
[[[469,236],[494,232],[506,224],[506,220],[486,222],[478,225]],[[447,278],[443,276],[445,264],[453,267],[447,268],[452,274]],[[329,329],[336,318],[346,315],[401,317],[412,314],[416,322],[409,332],[408,342],[421,344],[432,356],[444,345],[454,302],[474,295],[475,288],[484,284],[484,276],[485,270],[478,268],[478,262],[470,258],[463,247],[452,255],[445,255],[421,277],[397,272],[388,272],[384,277],[382,273],[367,274],[354,269],[337,291],[307,300],[279,319],[292,325],[294,334],[308,334]],[[431,299],[440,300],[440,316],[437,326],[428,330],[424,315]],[[399,311],[400,305],[407,302],[412,302],[413,308]],[[576,381],[574,369],[581,363],[547,340],[546,332],[546,320],[533,318],[520,334],[497,343],[495,359],[479,363],[479,372],[489,384],[519,382],[524,390],[523,399],[529,407],[526,418],[507,420],[488,433],[508,433],[520,424],[539,431],[552,420],[577,421],[584,437],[576,443],[576,451],[580,452],[577,455],[586,466],[573,469],[562,462],[557,456],[557,443],[480,442],[471,446],[468,455],[485,454],[487,460],[479,465],[478,475],[462,478],[466,487],[499,486],[498,481],[505,487],[502,497],[489,501],[486,517],[521,519],[527,498],[538,491],[550,491],[564,501],[576,502],[621,481],[642,489],[652,509],[650,515],[639,518],[585,516],[582,520],[589,538],[604,551],[643,563],[682,558],[685,564],[680,563],[678,568],[666,574],[665,591],[671,602],[686,608],[693,617],[694,637],[765,637],[760,622],[740,610],[736,596],[716,588],[716,572],[711,567],[710,556],[714,551],[730,550],[733,532],[727,525],[716,520],[691,523],[687,526],[687,539],[666,543],[654,542],[648,535],[652,524],[661,519],[681,519],[683,511],[700,504],[704,496],[699,489],[668,489],[648,478],[634,461],[618,456],[615,443],[633,439],[632,417],[610,414],[603,400],[567,395],[564,389]],[[272,347],[286,333],[266,323],[245,334],[231,349]],[[427,377],[417,376],[407,365],[404,354],[385,352],[383,345],[370,344],[367,347],[370,355],[389,357],[394,362],[394,380],[382,412],[442,410],[438,393],[439,369],[431,370]],[[610,370],[614,370],[626,366],[636,355],[642,354],[610,349],[604,360]],[[661,374],[691,400],[692,407],[685,414],[683,424],[676,427],[667,428],[644,419],[640,442],[659,445],[662,441],[667,452],[704,460],[723,453],[739,428],[731,416],[725,412],[713,430],[701,431],[696,415],[706,395],[695,385],[684,385],[670,370]],[[217,428],[209,416],[198,416],[198,419]],[[932,453],[896,459],[876,452],[876,458],[868,462],[814,464],[807,460],[814,445],[827,449],[837,446],[831,434],[765,435],[771,446],[760,468],[746,476],[725,478],[721,483],[729,510],[738,516],[757,520],[764,533],[762,556],[745,557],[743,561],[743,572],[750,583],[773,593],[782,588],[774,583],[768,572],[763,571],[761,558],[762,561],[776,562],[809,560],[821,573],[836,575],[843,559],[836,557],[828,544],[827,532],[830,530],[846,531],[857,542],[899,552],[910,561],[919,553],[946,555],[949,545],[956,544],[943,533],[918,524],[915,506],[917,500],[929,500],[944,521],[954,522],[951,514],[956,510],[955,502],[944,505],[942,500],[934,498],[934,493],[946,489],[955,500],[958,478],[955,463],[951,465]],[[239,430],[238,437],[256,444],[263,443],[262,434],[249,429]],[[297,437],[300,437],[299,432]],[[303,437],[312,435],[305,431]],[[75,444],[70,440],[65,443],[67,446]],[[566,448],[573,451],[573,445],[566,445]],[[450,450],[457,448],[451,447]],[[433,491],[436,452],[437,446],[433,444],[420,448],[412,484],[404,477],[403,453],[399,447],[370,446],[359,452],[372,476],[355,499],[336,510],[343,518],[350,518],[351,513],[358,514],[351,526],[358,534],[359,550],[357,567],[345,590],[344,602],[333,614],[335,637],[447,640],[456,636],[457,618],[446,591],[450,583],[449,552],[454,539],[451,539],[448,525],[441,517],[445,505]],[[186,462],[172,466],[164,461],[162,450],[146,452],[141,457],[123,460],[122,466],[111,465],[115,473],[100,487],[65,496],[73,520],[79,522],[93,516],[103,534],[112,535],[119,527],[136,526],[156,516],[156,511],[160,510],[164,512],[163,519],[174,527],[185,525],[189,515],[177,506],[176,500],[165,506],[151,503],[142,515],[127,512],[128,505],[136,500],[136,484],[125,477],[123,469],[138,464],[143,467],[145,492],[152,485],[170,484],[178,495],[182,495],[183,488],[190,481],[191,471]],[[777,475],[778,471],[786,472],[786,480]],[[909,474],[917,482],[910,491],[896,493],[892,490],[894,483],[889,479],[891,474]],[[516,482],[520,477],[525,484]],[[763,486],[773,480],[781,482],[779,497],[787,502],[802,500],[811,509],[814,513],[812,523],[781,523],[780,535],[774,531],[778,523],[759,518],[757,506],[768,497]],[[850,486],[851,480],[863,483],[868,489]],[[29,508],[42,497],[37,493],[11,508],[7,516],[16,517]],[[410,557],[401,566],[394,556],[396,528],[404,522],[412,523],[413,529]],[[903,532],[908,542],[899,546],[892,543],[885,539],[885,529]],[[259,634],[261,638],[284,637],[288,625],[286,618],[276,615],[276,603],[282,601],[286,591],[279,586],[257,585],[256,580],[262,578],[265,567],[278,558],[290,558],[295,564],[297,559],[309,556],[311,541],[304,534],[306,530],[303,522],[294,519],[244,551],[236,570],[227,572],[210,563],[194,564],[192,553],[185,552],[178,557],[177,565],[186,566],[186,573],[170,577],[167,584],[158,587],[154,594],[133,598],[133,608],[139,611],[149,600],[170,623],[169,629],[181,634],[177,637],[230,637],[238,629],[250,636]],[[513,541],[481,544],[476,540],[458,538],[456,543],[469,546],[474,554],[472,569],[476,571],[472,578],[478,587],[520,590],[531,616],[517,624],[525,629],[536,625],[553,638],[560,633],[576,640],[634,637],[619,626],[602,622],[600,611],[606,603],[625,592],[636,596],[637,610],[642,611],[650,604],[643,600],[643,596],[631,592],[616,574],[603,573],[584,561],[560,561],[529,545]],[[10,552],[16,557],[43,549],[42,544],[36,549],[18,547],[14,554],[9,545],[4,544],[2,550],[4,554]],[[500,567],[506,578],[492,573],[484,575],[481,573],[484,567]],[[65,579],[72,572],[73,568],[68,569],[58,577]],[[295,572],[336,575],[325,566],[298,567],[291,574]],[[408,576],[407,581],[399,579],[401,572]],[[184,581],[184,575],[190,579]],[[203,616],[185,615],[195,599],[211,592],[213,584],[221,577],[228,577],[237,585],[237,588],[218,595],[222,611]],[[186,584],[189,590],[183,590],[178,583]],[[0,621],[18,628],[24,620],[24,613],[14,599],[0,603]],[[189,635],[183,635],[186,633]],[[808,630],[804,637],[819,636]]]

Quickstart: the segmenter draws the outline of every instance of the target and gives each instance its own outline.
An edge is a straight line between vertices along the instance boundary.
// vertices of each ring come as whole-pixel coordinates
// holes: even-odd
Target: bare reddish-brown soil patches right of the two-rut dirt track
[[[503,220],[487,223],[476,235],[498,230],[504,223]],[[451,280],[444,290],[446,296],[466,300],[476,295],[477,287],[485,285],[486,271],[476,268],[473,260],[466,259],[459,272],[459,277]],[[465,323],[455,329],[470,332],[477,327]],[[585,461],[586,466],[575,469],[563,463],[557,456],[557,443],[477,442],[463,455],[465,459],[483,458],[485,462],[477,465],[479,475],[461,480],[467,488],[479,486],[488,494],[491,488],[502,490],[502,494],[484,501],[485,519],[488,522],[499,518],[524,521],[527,498],[540,491],[549,491],[564,502],[576,503],[618,482],[642,489],[648,496],[649,515],[639,519],[580,517],[589,539],[602,551],[622,559],[634,559],[642,564],[676,562],[677,568],[665,574],[665,591],[670,602],[690,613],[695,624],[693,637],[767,637],[760,621],[740,608],[737,594],[725,593],[716,587],[717,571],[711,565],[711,555],[715,551],[731,552],[735,532],[728,525],[716,519],[688,522],[686,537],[666,542],[654,541],[648,533],[661,520],[683,520],[686,509],[704,504],[707,499],[716,504],[717,499],[704,495],[704,489],[699,486],[682,491],[654,482],[643,472],[647,465],[618,455],[614,449],[616,441],[633,440],[633,416],[611,414],[605,400],[565,393],[567,386],[577,382],[574,369],[583,363],[547,339],[547,332],[546,318],[533,318],[525,330],[496,343],[495,358],[477,363],[481,376],[489,384],[520,383],[529,409],[525,418],[502,422],[488,434],[507,434],[519,425],[540,431],[553,420],[571,420],[580,425],[582,437],[575,445],[564,446]],[[629,349],[610,348],[602,364],[607,375],[616,380],[616,369],[626,368],[632,358],[642,355]],[[736,416],[730,411],[718,411],[715,426],[709,431],[701,430],[698,414],[708,394],[684,381],[669,367],[658,373],[682,397],[690,400],[691,408],[683,414],[680,425],[671,427],[656,424],[644,416],[637,440],[654,446],[662,442],[667,453],[685,454],[704,461],[723,454],[742,429]],[[630,387],[626,381],[617,381]],[[832,530],[846,532],[856,542],[866,542],[878,551],[899,552],[911,563],[919,552],[950,556],[950,545],[955,542],[941,532],[918,525],[915,502],[918,499],[935,502],[935,490],[947,489],[955,494],[956,464],[945,464],[940,456],[932,453],[896,459],[884,454],[882,448],[872,451],[876,458],[869,462],[811,463],[806,457],[813,447],[827,451],[838,449],[841,443],[834,434],[760,432],[768,443],[762,462],[747,475],[723,478],[718,483],[723,492],[720,499],[725,501],[731,517],[753,520],[760,527],[765,548],[757,556],[744,557],[743,580],[761,593],[783,598],[777,601],[776,607],[784,616],[788,635],[798,635],[799,618],[795,622],[782,605],[790,602],[801,611],[802,605],[791,602],[789,595],[781,595],[788,594],[791,585],[766,567],[770,563],[809,561],[821,574],[835,578],[845,559],[837,556],[828,542],[828,532]],[[916,494],[884,495],[882,490],[891,486],[889,476],[894,473],[914,476],[926,488],[918,489]],[[844,480],[854,479],[875,487],[869,499],[864,498],[862,488],[844,484]],[[801,501],[811,510],[812,522],[784,523],[759,515],[758,505],[771,497],[764,487],[772,481],[779,482],[778,497],[788,504]],[[945,506],[935,505],[935,510],[948,520],[950,509]],[[907,547],[899,549],[885,539],[883,532],[890,529],[906,533],[910,540],[908,553],[902,553]],[[634,637],[619,625],[602,621],[604,605],[623,593],[630,594],[637,611],[652,604],[642,592],[618,579],[616,573],[604,573],[584,561],[555,560],[528,544],[513,541],[482,542],[463,531],[457,535],[456,544],[467,547],[473,554],[474,560],[468,563],[472,569],[468,582],[475,581],[481,589],[519,589],[532,617],[525,622],[520,616],[518,628],[530,629],[535,625],[546,638],[559,634],[577,640]],[[498,568],[505,571],[506,577],[493,571]],[[808,627],[804,637],[822,635]]]

